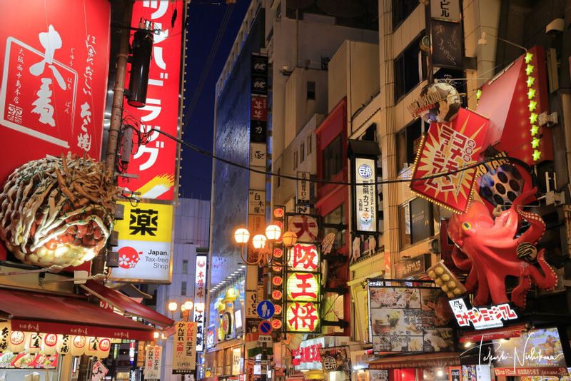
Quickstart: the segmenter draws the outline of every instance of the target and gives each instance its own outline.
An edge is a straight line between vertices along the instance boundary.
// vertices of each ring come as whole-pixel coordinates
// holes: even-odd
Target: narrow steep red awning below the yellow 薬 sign
[[[101,283],[97,283],[94,280],[88,280],[84,285],[81,285],[81,287],[104,302],[113,305],[113,307],[123,313],[141,317],[142,319],[161,327],[169,327],[174,324],[174,320],[170,317],[166,317],[165,315],[156,312],[156,310],[151,310],[151,308],[148,308],[141,303],[136,303],[136,301],[132,300],[128,296],[123,295],[117,290],[108,288]]]

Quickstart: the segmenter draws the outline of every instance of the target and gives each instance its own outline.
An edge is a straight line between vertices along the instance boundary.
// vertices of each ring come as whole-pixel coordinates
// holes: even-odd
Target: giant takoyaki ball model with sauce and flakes
[[[91,158],[30,161],[0,193],[0,238],[24,263],[81,265],[105,245],[117,193],[103,163]]]

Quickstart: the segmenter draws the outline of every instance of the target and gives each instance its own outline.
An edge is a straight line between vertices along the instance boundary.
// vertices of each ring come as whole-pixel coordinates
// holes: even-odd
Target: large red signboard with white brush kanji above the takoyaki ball
[[[100,158],[110,18],[106,0],[4,1],[0,183],[46,154]]]

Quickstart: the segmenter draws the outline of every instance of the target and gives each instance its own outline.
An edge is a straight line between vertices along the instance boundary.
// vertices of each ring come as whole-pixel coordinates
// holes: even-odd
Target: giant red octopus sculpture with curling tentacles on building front
[[[525,308],[532,283],[542,290],[557,286],[557,275],[545,261],[545,249],[535,249],[545,233],[545,223],[540,215],[523,210],[524,205],[535,200],[536,191],[534,188],[517,196],[511,208],[497,213],[495,218],[480,201],[450,218],[448,235],[458,247],[453,260],[461,270],[470,271],[465,287],[468,292],[477,289],[474,305],[487,305],[490,296],[496,305],[508,303],[507,276],[519,278],[511,301],[520,308]],[[521,233],[524,220],[530,226]],[[535,258],[541,270],[529,262]]]

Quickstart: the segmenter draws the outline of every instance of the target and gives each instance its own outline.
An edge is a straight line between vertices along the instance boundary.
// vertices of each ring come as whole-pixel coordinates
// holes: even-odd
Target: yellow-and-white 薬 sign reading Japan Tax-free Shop
[[[173,206],[156,203],[121,202],[123,220],[117,220],[119,267],[114,280],[163,283],[171,276]]]

